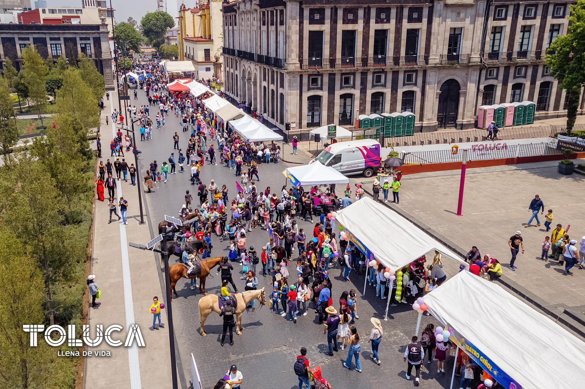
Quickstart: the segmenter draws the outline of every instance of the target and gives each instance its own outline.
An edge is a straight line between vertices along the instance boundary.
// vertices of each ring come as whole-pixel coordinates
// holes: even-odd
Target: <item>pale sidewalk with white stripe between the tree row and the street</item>
[[[111,104],[117,104],[115,91],[111,91],[110,99],[105,101],[102,116],[113,111]],[[102,126],[102,144],[109,143],[109,130],[113,136],[112,122],[108,127]],[[128,162],[132,163],[132,154],[126,155],[131,159]],[[108,156],[109,150],[104,149],[102,157],[105,160]],[[101,289],[101,298],[98,300],[101,305],[99,309],[89,309],[88,324],[92,336],[96,325],[103,325],[104,330],[112,324],[121,325],[122,331],[113,333],[112,338],[124,342],[128,328],[136,323],[146,346],[137,347],[134,342],[133,347],[112,347],[102,342],[98,347],[88,347],[92,352],[109,351],[111,356],[86,357],[84,387],[110,389],[115,383],[120,388],[170,388],[168,328],[154,331],[153,315],[149,312],[155,295],[159,301],[167,302],[166,294],[161,291],[157,259],[153,253],[128,246],[128,242],[146,244],[150,240],[149,225],[138,225],[140,213],[137,187],[130,185],[130,181],[126,183],[120,180],[116,184],[116,200],[123,195],[129,204],[128,225],[119,224],[115,215],[112,223],[108,224],[107,199],[104,202],[95,201],[91,274],[95,275],[95,282]],[[107,197],[107,190],[105,195]],[[167,323],[164,309],[161,316],[163,323]]]

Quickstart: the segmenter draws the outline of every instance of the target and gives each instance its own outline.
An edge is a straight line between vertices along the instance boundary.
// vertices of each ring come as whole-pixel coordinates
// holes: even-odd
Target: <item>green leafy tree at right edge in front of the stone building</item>
[[[558,36],[546,55],[550,74],[567,91],[567,131],[573,129],[581,87],[585,84],[585,0],[577,0],[570,7],[567,34]]]

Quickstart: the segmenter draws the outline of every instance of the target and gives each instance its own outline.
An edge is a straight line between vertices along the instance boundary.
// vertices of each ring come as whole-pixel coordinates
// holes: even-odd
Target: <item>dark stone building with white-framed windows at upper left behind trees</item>
[[[108,26],[99,25],[24,25],[0,24],[0,60],[2,68],[6,57],[20,71],[21,51],[30,44],[36,46],[43,58],[54,61],[84,53],[95,61],[99,73],[104,75],[108,89],[114,88],[112,56],[109,50]]]

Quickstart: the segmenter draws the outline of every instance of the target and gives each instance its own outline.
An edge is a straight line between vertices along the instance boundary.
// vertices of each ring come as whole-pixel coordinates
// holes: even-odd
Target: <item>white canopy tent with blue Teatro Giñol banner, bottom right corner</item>
[[[583,387],[585,342],[499,285],[462,271],[424,300],[453,329],[449,339],[473,349],[468,354],[503,387]]]

